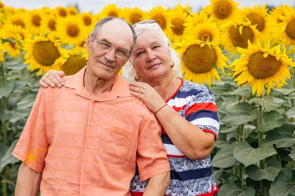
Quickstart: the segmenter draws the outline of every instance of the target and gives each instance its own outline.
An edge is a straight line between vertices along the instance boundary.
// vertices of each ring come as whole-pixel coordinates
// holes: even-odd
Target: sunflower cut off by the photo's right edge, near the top
[[[295,9],[284,8],[285,15],[279,15],[282,21],[274,27],[277,37],[283,41],[286,46],[295,45]]]

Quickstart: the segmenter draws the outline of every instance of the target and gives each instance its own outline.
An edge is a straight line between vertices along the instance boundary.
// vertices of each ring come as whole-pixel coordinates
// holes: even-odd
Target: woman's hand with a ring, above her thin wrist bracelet
[[[165,101],[157,93],[157,91],[144,82],[130,82],[131,95],[143,100],[148,109],[155,113],[163,105]]]

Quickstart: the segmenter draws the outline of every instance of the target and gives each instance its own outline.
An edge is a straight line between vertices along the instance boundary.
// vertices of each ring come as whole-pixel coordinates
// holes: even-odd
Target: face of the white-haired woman
[[[170,45],[164,45],[153,31],[144,31],[137,37],[132,54],[133,67],[149,83],[170,73]]]

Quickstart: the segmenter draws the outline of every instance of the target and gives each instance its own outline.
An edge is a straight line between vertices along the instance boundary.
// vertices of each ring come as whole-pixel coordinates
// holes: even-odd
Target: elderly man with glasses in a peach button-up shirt
[[[16,196],[129,196],[136,164],[145,195],[163,196],[170,167],[155,116],[119,70],[136,34],[126,21],[100,20],[88,36],[87,66],[64,86],[41,88],[13,155],[23,163]],[[42,179],[41,179],[42,176]]]

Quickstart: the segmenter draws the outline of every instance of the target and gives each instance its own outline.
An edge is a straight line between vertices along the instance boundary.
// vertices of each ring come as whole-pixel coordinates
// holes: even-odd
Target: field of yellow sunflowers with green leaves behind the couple
[[[211,153],[218,196],[295,195],[295,8],[238,7],[210,0],[189,5],[26,10],[0,2],[0,195],[13,196],[20,161],[11,155],[29,116],[41,75],[77,73],[85,42],[107,16],[130,24],[154,19],[182,60],[186,80],[215,95],[220,132]]]

